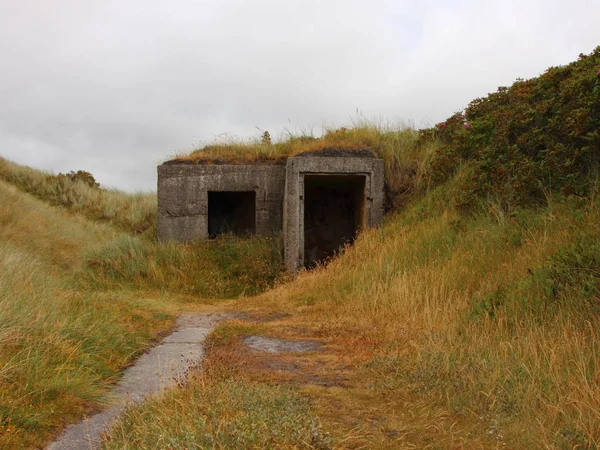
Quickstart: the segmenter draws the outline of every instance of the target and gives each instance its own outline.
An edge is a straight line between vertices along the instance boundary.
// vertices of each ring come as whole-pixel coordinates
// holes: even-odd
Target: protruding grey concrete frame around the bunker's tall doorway
[[[364,188],[364,224],[377,227],[383,221],[383,160],[354,156],[297,156],[286,165],[283,215],[285,262],[291,272],[304,264],[304,177],[305,175],[362,175]]]

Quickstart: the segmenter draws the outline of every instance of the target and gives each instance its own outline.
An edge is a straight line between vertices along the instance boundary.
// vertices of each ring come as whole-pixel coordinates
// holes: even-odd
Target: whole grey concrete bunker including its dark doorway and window
[[[239,165],[158,166],[158,238],[223,233],[281,236],[291,272],[312,267],[383,220],[383,161],[368,150],[326,149]]]

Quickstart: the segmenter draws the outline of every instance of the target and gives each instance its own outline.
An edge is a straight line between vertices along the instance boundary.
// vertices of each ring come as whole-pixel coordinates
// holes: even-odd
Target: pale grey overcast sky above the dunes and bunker
[[[105,187],[223,133],[427,126],[600,45],[598,0],[0,0],[0,155]]]

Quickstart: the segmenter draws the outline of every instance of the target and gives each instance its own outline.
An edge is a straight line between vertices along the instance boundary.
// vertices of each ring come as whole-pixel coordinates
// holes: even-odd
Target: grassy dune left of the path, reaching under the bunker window
[[[0,173],[0,448],[41,447],[98,407],[172,313],[203,302],[168,294],[256,293],[281,274],[272,240],[180,246],[140,234],[154,196],[6,160]]]

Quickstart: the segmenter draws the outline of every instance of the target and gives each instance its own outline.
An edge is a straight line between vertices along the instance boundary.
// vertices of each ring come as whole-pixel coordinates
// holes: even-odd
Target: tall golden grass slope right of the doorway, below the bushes
[[[483,448],[595,448],[598,203],[471,219],[442,202],[423,219],[424,206],[262,301],[305,309],[309,323],[327,317],[320,336],[347,342],[346,352],[357,336],[369,345],[370,356],[356,351],[357,382],[372,398],[403,400],[386,413],[396,426],[427,402],[463,422],[463,438],[491,432]],[[407,442],[424,445],[437,420],[412,423]],[[435,439],[443,448],[455,437]]]

